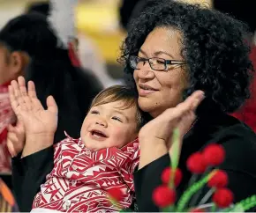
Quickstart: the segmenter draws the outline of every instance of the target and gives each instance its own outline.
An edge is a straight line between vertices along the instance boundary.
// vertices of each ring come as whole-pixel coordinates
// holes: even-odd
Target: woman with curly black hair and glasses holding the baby
[[[174,115],[180,103],[196,90],[205,92],[206,98],[197,109],[192,127],[183,129],[179,167],[184,179],[177,194],[184,191],[192,175],[186,169],[186,158],[208,143],[221,143],[226,151],[220,168],[229,175],[235,202],[256,193],[256,136],[228,115],[243,104],[249,93],[252,62],[244,30],[242,23],[220,12],[169,0],[152,2],[133,21],[121,59],[130,77],[128,82],[135,83],[139,107],[153,118],[139,132],[141,156],[134,173],[139,211],[159,210],[152,201],[152,192],[161,184],[161,173],[170,163],[169,126],[184,126]],[[21,210],[31,209],[41,175],[51,171],[52,151],[49,146],[21,159],[34,172],[26,177],[14,174],[14,180],[23,183],[16,195],[26,195],[19,199]]]

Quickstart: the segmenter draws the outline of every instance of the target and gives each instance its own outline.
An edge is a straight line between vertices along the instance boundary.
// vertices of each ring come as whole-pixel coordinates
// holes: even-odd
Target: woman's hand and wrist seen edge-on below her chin
[[[195,121],[195,110],[202,99],[204,99],[204,92],[193,92],[184,102],[165,110],[140,129],[139,168],[169,152],[175,128],[179,129],[181,138],[186,134],[192,122]]]

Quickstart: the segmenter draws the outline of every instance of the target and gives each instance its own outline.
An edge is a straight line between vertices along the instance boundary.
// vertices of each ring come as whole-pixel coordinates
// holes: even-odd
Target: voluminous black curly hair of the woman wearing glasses
[[[215,106],[227,113],[234,112],[249,98],[253,68],[245,41],[247,26],[198,4],[162,0],[148,1],[147,5],[133,19],[121,48],[119,62],[125,63],[124,75],[132,77],[129,56],[138,55],[148,33],[155,27],[170,27],[183,34],[182,55],[190,74],[190,86],[184,98],[202,90],[207,96],[207,107]]]

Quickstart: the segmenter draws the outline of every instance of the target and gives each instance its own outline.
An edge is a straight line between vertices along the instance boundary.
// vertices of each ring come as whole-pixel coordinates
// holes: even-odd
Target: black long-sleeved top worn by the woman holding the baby
[[[177,195],[184,192],[192,176],[186,168],[186,159],[208,143],[220,143],[226,151],[225,161],[219,168],[229,175],[228,187],[234,193],[235,202],[256,195],[256,135],[244,123],[222,112],[201,116],[184,137],[179,162],[184,175],[177,188]],[[169,155],[165,155],[134,173],[136,206],[139,212],[160,210],[152,201],[152,193],[155,187],[162,184],[161,174],[169,163]],[[13,158],[12,166],[13,188],[19,209],[30,211],[34,195],[39,192],[40,185],[53,168],[53,147],[26,158]],[[207,191],[208,188],[205,187],[196,196],[200,200]]]

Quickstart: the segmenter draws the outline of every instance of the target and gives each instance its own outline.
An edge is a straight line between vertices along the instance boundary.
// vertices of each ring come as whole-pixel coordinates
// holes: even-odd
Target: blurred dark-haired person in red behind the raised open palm
[[[6,142],[6,136],[23,128],[20,123],[15,124],[11,111],[7,90],[11,80],[21,75],[27,81],[36,82],[43,106],[46,106],[46,97],[55,97],[60,106],[55,141],[65,137],[65,130],[74,137],[79,136],[78,129],[91,100],[102,91],[102,84],[94,76],[72,63],[76,61],[76,55],[71,54],[72,50],[67,48],[68,39],[64,40],[64,36],[69,33],[72,35],[72,32],[62,36],[58,34],[62,32],[56,29],[54,20],[50,22],[46,16],[34,12],[12,18],[0,31],[0,177],[9,187],[12,187],[11,156],[7,152],[6,143],[12,156],[16,156],[20,150],[12,149],[13,144]],[[18,169],[12,171],[14,179],[15,173],[29,175],[29,169],[24,167],[26,163],[22,160],[18,158],[12,163]],[[15,187],[22,184],[16,181],[14,191]]]

